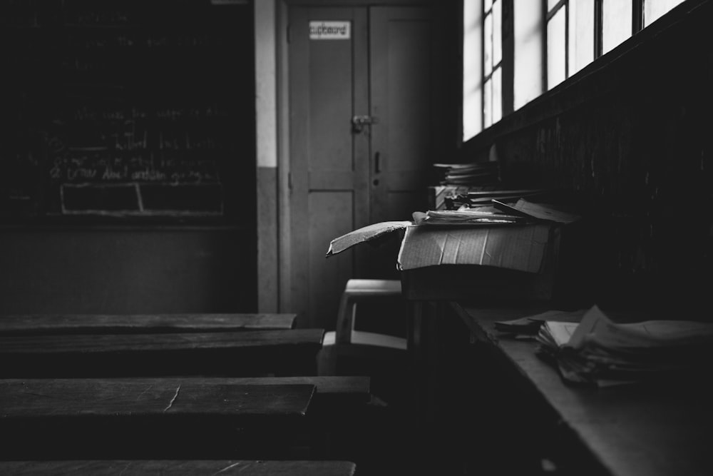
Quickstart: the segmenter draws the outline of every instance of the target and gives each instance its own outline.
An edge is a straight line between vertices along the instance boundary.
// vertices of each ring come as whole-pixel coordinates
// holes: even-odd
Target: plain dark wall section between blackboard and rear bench
[[[254,312],[255,236],[95,228],[0,233],[0,314]]]

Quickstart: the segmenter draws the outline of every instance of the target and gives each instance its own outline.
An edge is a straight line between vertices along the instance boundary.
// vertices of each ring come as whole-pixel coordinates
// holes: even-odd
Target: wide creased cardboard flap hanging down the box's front
[[[539,273],[550,224],[438,228],[411,226],[401,242],[401,270],[434,265],[486,265]]]

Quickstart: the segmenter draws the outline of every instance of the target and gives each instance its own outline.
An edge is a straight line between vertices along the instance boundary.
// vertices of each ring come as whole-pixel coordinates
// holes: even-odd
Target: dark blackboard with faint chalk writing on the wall
[[[255,209],[252,4],[0,1],[0,215]]]

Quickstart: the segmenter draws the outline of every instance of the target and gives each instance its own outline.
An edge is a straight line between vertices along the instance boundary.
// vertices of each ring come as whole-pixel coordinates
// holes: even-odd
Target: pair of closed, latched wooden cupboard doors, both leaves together
[[[349,278],[398,278],[397,239],[325,253],[332,238],[425,209],[442,137],[434,36],[423,7],[289,9],[289,292],[299,325],[333,328]],[[354,126],[355,116],[367,123]]]

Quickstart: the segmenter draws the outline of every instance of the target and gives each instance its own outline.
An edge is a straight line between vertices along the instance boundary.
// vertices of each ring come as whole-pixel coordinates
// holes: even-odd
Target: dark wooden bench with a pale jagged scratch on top
[[[289,457],[309,383],[203,379],[0,380],[0,459]]]

